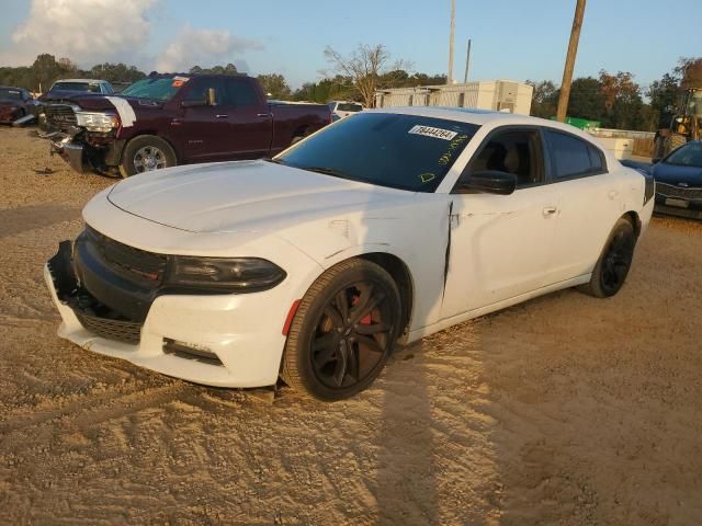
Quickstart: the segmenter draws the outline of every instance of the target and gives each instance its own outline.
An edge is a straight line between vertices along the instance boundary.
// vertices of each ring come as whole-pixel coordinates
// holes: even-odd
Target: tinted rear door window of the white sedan
[[[577,137],[545,130],[553,159],[554,179],[601,173],[604,170],[602,155],[592,145]]]

